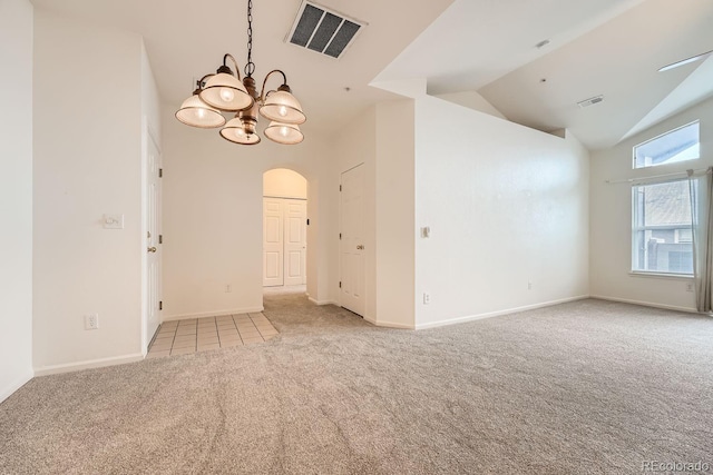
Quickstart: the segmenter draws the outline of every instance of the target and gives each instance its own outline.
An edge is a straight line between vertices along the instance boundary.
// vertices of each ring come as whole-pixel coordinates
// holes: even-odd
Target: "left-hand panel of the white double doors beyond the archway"
[[[284,285],[284,212],[280,198],[263,198],[263,286]]]

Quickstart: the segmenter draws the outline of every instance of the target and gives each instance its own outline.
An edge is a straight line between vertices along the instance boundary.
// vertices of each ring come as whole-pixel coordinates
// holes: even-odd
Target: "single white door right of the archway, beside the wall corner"
[[[342,174],[340,305],[364,315],[364,166]]]

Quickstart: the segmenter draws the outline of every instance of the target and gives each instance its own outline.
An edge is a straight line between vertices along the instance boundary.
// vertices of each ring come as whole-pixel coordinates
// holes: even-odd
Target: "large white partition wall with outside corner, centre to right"
[[[365,167],[368,320],[428,327],[588,295],[589,156],[574,137],[417,95],[360,115],[334,148],[340,172]]]

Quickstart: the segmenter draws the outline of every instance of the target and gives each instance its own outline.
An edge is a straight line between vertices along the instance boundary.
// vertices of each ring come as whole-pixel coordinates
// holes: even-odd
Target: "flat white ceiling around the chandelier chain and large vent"
[[[141,34],[162,98],[176,108],[191,96],[194,78],[215,72],[224,53],[245,65],[247,0],[31,1],[38,9]],[[305,137],[333,131],[370,103],[393,97],[368,83],[451,1],[423,1],[417,10],[410,0],[318,1],[369,23],[335,60],[285,42],[302,0],[253,0],[254,77],[262,86],[267,72],[282,69],[307,116],[301,126]],[[271,89],[279,78],[271,79]]]

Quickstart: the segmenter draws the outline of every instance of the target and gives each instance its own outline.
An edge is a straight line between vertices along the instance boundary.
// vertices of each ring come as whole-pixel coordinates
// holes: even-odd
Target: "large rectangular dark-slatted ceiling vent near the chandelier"
[[[287,42],[339,58],[367,23],[345,18],[316,3],[304,1],[287,34]]]

